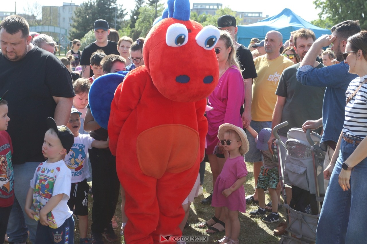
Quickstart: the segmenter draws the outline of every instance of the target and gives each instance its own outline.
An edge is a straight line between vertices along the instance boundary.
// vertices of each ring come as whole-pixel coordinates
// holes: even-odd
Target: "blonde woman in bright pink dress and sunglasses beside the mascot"
[[[236,49],[230,34],[221,30],[221,36],[215,45],[215,53],[219,63],[219,81],[214,91],[208,97],[208,103],[214,109],[207,111],[208,133],[207,150],[210,168],[213,175],[213,187],[218,175],[224,166],[224,146],[218,140],[218,128],[223,123],[242,127],[239,107],[244,101],[244,82],[239,63],[236,58]],[[243,199],[245,206],[246,202]],[[224,211],[221,207],[215,208],[215,215],[199,227],[209,226],[207,233],[221,232],[225,228]]]

